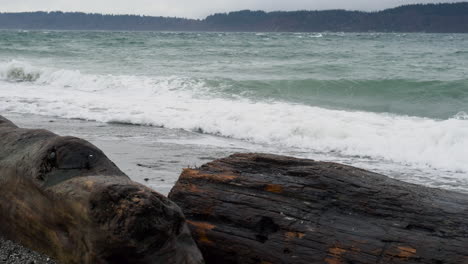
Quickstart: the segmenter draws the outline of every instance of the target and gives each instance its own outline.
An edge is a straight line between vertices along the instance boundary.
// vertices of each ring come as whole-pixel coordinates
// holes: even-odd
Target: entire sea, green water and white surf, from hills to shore
[[[466,34],[0,31],[2,113],[208,135],[197,144],[468,192]]]

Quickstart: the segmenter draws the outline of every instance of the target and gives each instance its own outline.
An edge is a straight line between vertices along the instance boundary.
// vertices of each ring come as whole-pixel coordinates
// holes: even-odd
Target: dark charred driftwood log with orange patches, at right
[[[468,195],[340,164],[236,154],[169,198],[207,263],[468,263]]]

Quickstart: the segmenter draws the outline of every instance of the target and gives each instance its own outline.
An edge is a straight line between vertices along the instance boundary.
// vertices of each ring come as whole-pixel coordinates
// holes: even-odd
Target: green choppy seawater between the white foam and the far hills
[[[442,120],[468,112],[466,34],[1,31],[0,65],[12,61],[84,75],[176,76],[223,98]]]

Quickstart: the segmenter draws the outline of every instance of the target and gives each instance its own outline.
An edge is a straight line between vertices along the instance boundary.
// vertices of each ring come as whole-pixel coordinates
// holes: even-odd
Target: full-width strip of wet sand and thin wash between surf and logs
[[[336,153],[310,153],[282,150],[275,146],[250,143],[216,135],[155,126],[102,123],[82,119],[2,113],[20,127],[47,129],[62,136],[90,141],[129,175],[157,192],[167,195],[184,168],[193,168],[234,153],[262,152],[337,162],[390,178],[427,187],[468,193],[468,178],[444,171],[420,169],[410,165],[368,157],[339,156]]]

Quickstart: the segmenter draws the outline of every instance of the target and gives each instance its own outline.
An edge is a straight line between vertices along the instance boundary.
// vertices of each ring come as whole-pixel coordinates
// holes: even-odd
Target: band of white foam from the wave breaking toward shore
[[[201,80],[180,77],[39,72],[11,82],[0,66],[0,111],[203,131],[277,148],[337,152],[468,172],[468,120],[329,110],[285,102],[255,102],[213,95]],[[6,70],[5,70],[6,69]]]

